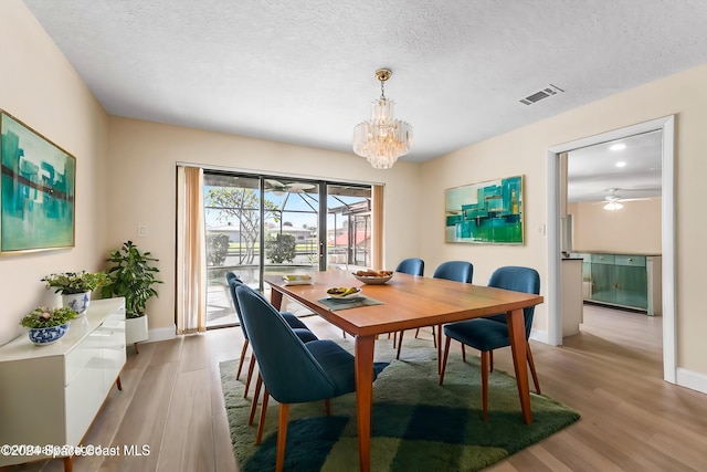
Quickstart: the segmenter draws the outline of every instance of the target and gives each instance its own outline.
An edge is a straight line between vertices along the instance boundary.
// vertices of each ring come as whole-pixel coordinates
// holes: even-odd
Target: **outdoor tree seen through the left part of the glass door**
[[[238,262],[240,264],[252,264],[257,252],[256,244],[260,241],[261,211],[260,198],[253,189],[234,187],[213,187],[205,195],[207,207],[219,210],[218,220],[221,222],[239,223],[240,245],[238,251]],[[267,221],[279,221],[279,209],[270,200],[263,200],[265,214],[263,219]]]

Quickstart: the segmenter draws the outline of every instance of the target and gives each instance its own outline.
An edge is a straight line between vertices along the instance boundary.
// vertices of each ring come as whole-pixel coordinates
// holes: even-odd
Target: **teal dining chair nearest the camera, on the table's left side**
[[[272,396],[279,403],[275,470],[282,471],[289,405],[325,400],[329,415],[330,398],[356,391],[355,358],[333,340],[303,343],[282,314],[245,285],[235,293],[265,385],[255,442],[261,442]],[[377,374],[374,368],[373,380]]]

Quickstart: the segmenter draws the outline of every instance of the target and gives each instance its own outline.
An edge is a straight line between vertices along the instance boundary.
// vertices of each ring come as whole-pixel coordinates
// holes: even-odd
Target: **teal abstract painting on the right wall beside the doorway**
[[[447,189],[445,241],[523,244],[523,176]]]

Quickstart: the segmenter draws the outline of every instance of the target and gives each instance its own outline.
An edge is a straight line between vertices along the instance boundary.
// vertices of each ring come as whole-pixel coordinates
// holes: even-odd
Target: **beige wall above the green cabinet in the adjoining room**
[[[624,201],[616,211],[603,202],[570,203],[574,252],[661,254],[662,199]]]

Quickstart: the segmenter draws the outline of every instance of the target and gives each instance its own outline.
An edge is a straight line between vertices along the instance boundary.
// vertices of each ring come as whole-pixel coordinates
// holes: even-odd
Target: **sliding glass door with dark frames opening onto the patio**
[[[268,275],[371,265],[370,186],[204,171],[203,191],[208,327],[238,322],[229,271],[262,291]]]

